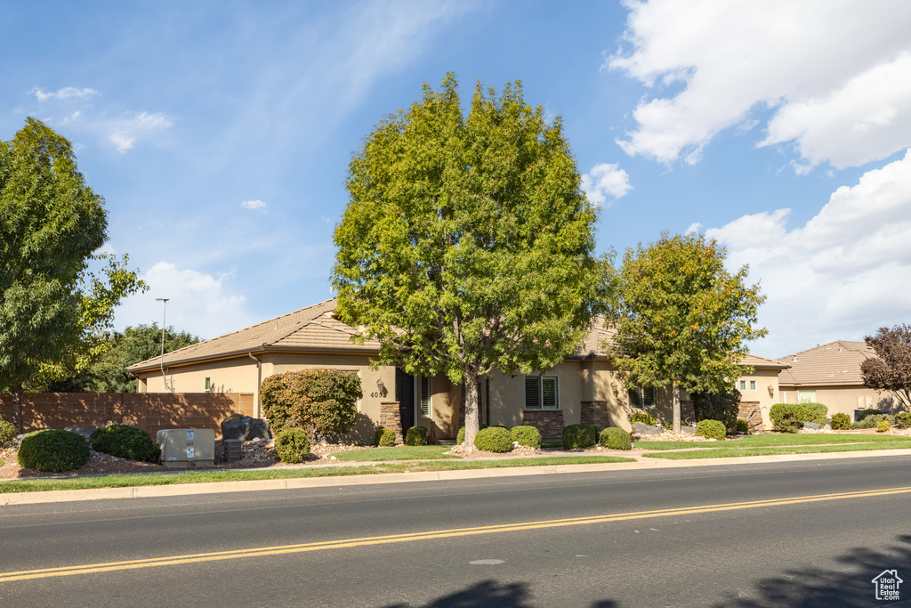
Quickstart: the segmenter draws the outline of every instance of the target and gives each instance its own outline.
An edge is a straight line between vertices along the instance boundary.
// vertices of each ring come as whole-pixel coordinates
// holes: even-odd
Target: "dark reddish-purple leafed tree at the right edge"
[[[864,384],[889,391],[911,410],[911,326],[880,327],[876,335],[867,335],[864,341],[877,357],[860,366]]]

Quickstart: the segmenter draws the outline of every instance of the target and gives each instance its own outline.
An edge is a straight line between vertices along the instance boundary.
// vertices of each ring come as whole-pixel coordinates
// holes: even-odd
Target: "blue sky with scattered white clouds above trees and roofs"
[[[47,2],[0,14],[0,139],[77,149],[118,328],[201,337],[332,296],[353,150],[455,72],[561,116],[599,252],[705,232],[784,356],[911,321],[911,3]]]

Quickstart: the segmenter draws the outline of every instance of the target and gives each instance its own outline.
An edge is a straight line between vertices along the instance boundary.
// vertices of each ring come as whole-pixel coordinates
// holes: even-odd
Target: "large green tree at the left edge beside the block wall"
[[[91,349],[82,346],[87,333],[142,286],[113,256],[107,278],[87,273],[106,230],[104,200],[87,187],[67,139],[29,118],[0,142],[0,390],[13,393],[19,429],[24,386],[76,362]]]

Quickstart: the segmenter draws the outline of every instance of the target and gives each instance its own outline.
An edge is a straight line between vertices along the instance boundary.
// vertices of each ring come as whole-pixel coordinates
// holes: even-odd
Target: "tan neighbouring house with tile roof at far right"
[[[864,342],[835,340],[778,359],[790,366],[779,376],[782,403],[813,402],[829,408],[829,416],[847,414],[854,419],[855,409],[875,407],[888,411],[897,407],[888,392],[864,386],[860,366],[875,357]]]

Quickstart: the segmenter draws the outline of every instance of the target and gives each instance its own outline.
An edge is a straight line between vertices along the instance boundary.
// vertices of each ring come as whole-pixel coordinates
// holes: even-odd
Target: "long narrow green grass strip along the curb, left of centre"
[[[16,479],[0,482],[0,494],[39,492],[50,489],[129,488],[135,486],[168,486],[181,483],[215,483],[223,481],[254,481],[259,479],[299,479],[313,477],[347,477],[441,470],[506,469],[512,467],[542,467],[603,462],[633,462],[634,459],[614,456],[569,456],[505,460],[430,460],[401,464],[380,463],[375,466],[321,467],[319,469],[219,470],[186,471],[180,473],[144,473],[137,475],[107,475],[104,477],[60,479]]]

